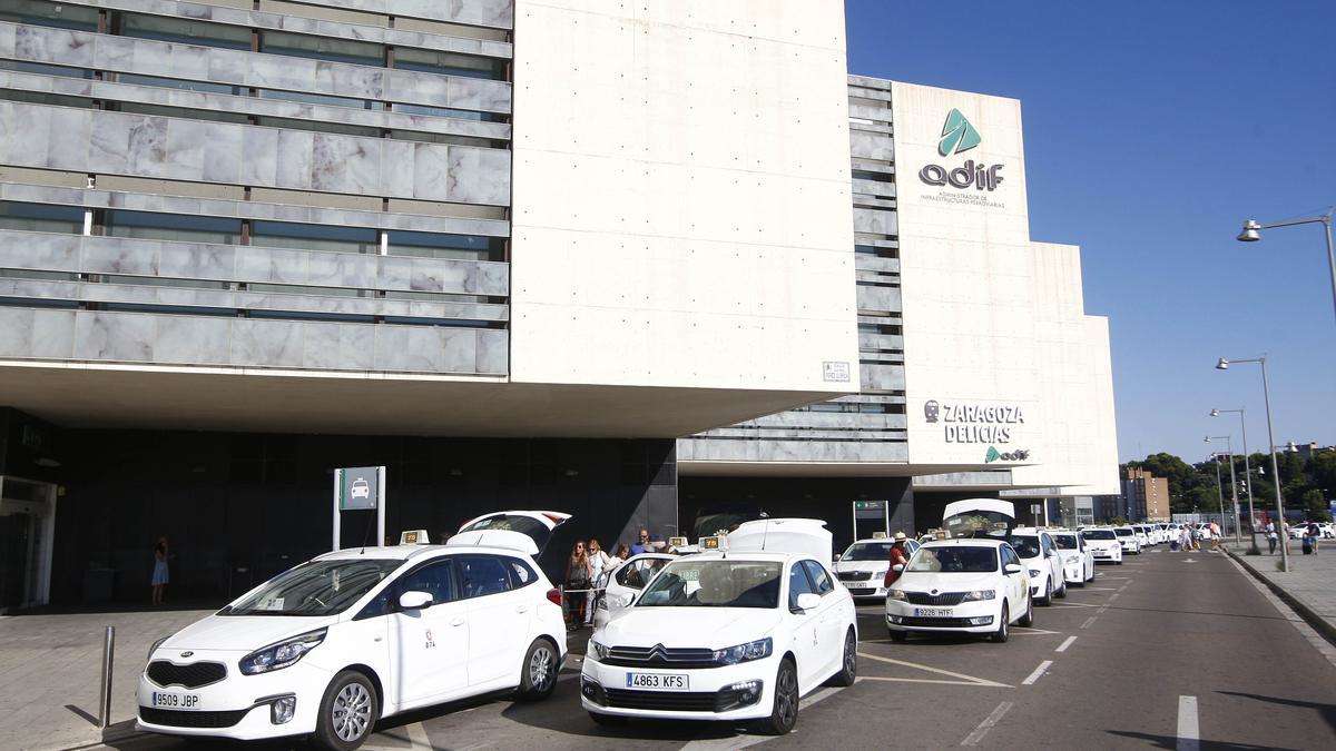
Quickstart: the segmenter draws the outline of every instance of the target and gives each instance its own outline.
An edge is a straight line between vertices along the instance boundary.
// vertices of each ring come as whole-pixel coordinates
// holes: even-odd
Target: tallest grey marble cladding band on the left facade
[[[53,120],[61,136],[52,135]],[[88,138],[76,140],[84,134]],[[489,206],[510,202],[510,152],[496,148],[414,143],[413,160],[402,162],[407,150],[395,148],[390,154],[399,162],[383,163],[382,139],[23,102],[0,102],[0,136],[4,163],[24,167],[59,162],[80,172],[191,182],[235,172],[243,184],[262,187]],[[401,174],[411,174],[411,180]]]

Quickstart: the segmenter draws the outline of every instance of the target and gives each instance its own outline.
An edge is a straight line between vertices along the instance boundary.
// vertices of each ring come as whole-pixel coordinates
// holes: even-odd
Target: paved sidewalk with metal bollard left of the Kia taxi
[[[132,728],[135,686],[148,647],[211,611],[158,609],[0,616],[0,748],[99,743],[98,695],[104,627],[116,628],[112,734]]]

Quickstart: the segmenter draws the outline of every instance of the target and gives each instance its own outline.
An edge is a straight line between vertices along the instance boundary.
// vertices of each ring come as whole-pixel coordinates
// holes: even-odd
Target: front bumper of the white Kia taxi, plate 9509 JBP
[[[255,740],[306,735],[315,731],[319,703],[333,675],[306,660],[261,675],[242,675],[236,661],[243,653],[196,651],[190,660],[172,660],[163,651],[155,660],[176,664],[218,661],[227,675],[198,688],[159,686],[147,672],[139,673],[135,727],[167,735],[231,738]],[[155,707],[156,695],[167,695],[176,706]],[[283,698],[295,699],[291,719],[275,723],[271,707]]]

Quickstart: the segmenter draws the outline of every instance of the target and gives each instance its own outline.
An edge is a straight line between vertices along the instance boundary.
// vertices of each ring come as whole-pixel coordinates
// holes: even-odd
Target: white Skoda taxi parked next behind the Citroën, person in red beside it
[[[910,632],[1006,641],[1013,623],[1034,623],[1030,575],[1011,545],[994,537],[926,543],[886,596],[892,641]]]

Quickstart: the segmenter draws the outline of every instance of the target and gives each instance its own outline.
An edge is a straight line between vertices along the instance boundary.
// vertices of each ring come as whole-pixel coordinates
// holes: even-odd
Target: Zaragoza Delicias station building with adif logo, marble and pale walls
[[[831,0],[4,3],[0,255],[0,608],[136,599],[158,537],[242,591],[338,466],[390,531],[611,544],[1114,461],[1019,103],[850,78]]]

